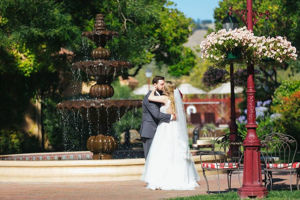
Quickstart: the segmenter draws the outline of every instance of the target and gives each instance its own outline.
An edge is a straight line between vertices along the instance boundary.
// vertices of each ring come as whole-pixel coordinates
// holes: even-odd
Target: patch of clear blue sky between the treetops
[[[176,8],[187,17],[194,20],[213,19],[213,10],[218,6],[220,0],[171,0],[177,4]]]

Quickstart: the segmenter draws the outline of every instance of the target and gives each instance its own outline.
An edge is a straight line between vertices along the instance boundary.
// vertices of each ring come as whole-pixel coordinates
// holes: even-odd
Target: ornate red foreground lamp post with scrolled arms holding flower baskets
[[[252,11],[252,0],[247,0],[247,10],[232,10],[236,12],[239,17],[242,14],[242,20],[247,25],[248,30],[253,31],[253,25],[262,17],[268,18],[269,12],[266,14],[261,12]],[[247,15],[247,19],[245,19]],[[256,18],[258,17],[258,18]],[[267,19],[266,18],[266,19]],[[253,21],[254,19],[254,21]],[[262,172],[261,172],[261,161],[260,161],[260,140],[256,135],[256,112],[255,112],[255,86],[254,86],[254,65],[247,65],[247,136],[243,142],[244,146],[244,173],[243,173],[243,184],[242,187],[238,188],[237,194],[240,198],[247,197],[266,197],[268,191],[262,186]]]

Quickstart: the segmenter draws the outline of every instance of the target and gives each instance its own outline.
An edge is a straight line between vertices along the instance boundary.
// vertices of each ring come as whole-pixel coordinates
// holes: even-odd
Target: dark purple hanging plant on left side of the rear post
[[[220,83],[226,83],[229,80],[229,73],[224,69],[209,67],[203,74],[202,82],[207,87],[215,87]]]

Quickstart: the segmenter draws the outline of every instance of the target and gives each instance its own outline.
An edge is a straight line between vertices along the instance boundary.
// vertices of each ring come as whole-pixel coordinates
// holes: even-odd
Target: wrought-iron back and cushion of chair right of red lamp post
[[[292,153],[292,145],[296,145],[295,138],[290,135],[284,135],[281,133],[271,133],[261,137],[261,143],[265,148],[265,152],[262,152],[265,163],[271,168],[292,168],[295,154]]]

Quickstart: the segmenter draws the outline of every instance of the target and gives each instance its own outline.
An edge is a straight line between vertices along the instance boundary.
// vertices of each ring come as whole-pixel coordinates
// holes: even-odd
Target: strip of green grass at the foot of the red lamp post
[[[170,198],[166,200],[219,200],[219,199],[228,199],[228,200],[239,200],[240,198],[237,195],[237,192],[226,192],[221,194],[205,194],[205,195],[197,195],[197,196],[190,196],[190,197],[176,197]],[[275,200],[275,199],[300,199],[300,191],[293,190],[273,190],[269,191],[267,195],[268,200]]]

